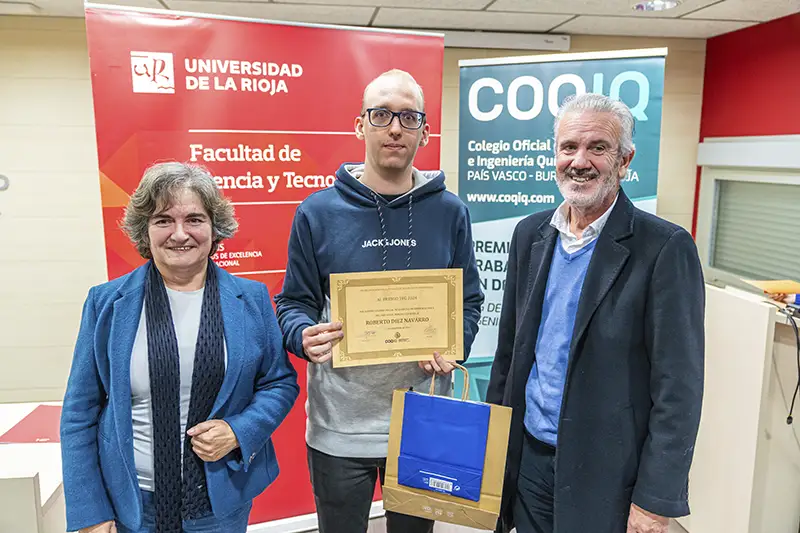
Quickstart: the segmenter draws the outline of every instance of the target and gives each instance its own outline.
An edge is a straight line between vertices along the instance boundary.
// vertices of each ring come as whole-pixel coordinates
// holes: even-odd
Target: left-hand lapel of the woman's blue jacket
[[[113,397],[109,398],[117,416],[117,437],[123,449],[125,444],[133,441],[131,424],[131,355],[139,320],[144,305],[144,281],[148,265],[134,270],[131,277],[117,289],[117,299],[113,304],[111,329],[108,336],[108,353],[110,359],[110,379]],[[131,448],[132,449],[132,448]],[[132,459],[132,458],[131,458]]]

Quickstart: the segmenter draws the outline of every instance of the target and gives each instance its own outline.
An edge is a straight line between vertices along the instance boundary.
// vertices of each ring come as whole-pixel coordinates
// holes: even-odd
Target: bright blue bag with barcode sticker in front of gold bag
[[[477,502],[491,407],[465,401],[468,387],[462,400],[434,396],[435,384],[430,394],[405,393],[397,482]]]

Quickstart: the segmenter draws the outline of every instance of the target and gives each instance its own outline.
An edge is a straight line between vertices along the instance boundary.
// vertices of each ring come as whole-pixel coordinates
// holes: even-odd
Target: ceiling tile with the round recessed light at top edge
[[[528,13],[566,13],[569,15],[636,15],[642,17],[675,18],[719,0],[684,0],[675,9],[635,13],[635,0],[497,0],[489,11],[518,11]],[[756,0],[750,0],[756,1]],[[769,0],[772,1],[772,0]]]

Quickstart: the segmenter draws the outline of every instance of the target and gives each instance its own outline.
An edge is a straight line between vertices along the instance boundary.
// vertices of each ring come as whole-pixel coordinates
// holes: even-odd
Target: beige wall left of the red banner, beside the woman
[[[82,20],[0,17],[0,401],[60,399],[105,281]]]

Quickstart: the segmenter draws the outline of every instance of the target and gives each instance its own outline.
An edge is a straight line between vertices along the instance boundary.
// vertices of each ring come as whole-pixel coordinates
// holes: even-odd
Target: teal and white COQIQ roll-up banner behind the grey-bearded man
[[[656,212],[666,54],[659,48],[459,62],[458,194],[472,216],[486,294],[467,364],[472,399],[486,397],[514,227],[563,200],[553,121],[565,98],[601,93],[630,107],[636,155],[622,187],[637,207]]]

